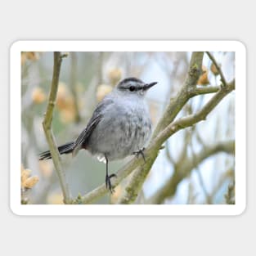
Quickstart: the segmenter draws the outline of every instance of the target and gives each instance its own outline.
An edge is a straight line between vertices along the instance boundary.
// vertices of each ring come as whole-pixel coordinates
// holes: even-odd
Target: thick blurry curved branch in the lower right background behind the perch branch
[[[162,188],[160,188],[147,203],[162,204],[165,199],[175,195],[178,184],[182,182],[194,168],[202,163],[204,159],[209,158],[211,155],[218,154],[219,152],[235,155],[235,141],[218,142],[215,145],[204,147],[199,153],[193,155],[191,158],[180,158],[175,165],[173,176],[165,182],[164,186],[162,186]]]

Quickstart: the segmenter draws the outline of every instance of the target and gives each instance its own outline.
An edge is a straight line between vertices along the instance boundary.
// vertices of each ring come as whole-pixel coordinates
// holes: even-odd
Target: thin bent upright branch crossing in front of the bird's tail
[[[62,62],[62,59],[66,56],[67,56],[66,54],[61,55],[61,52],[54,52],[52,85],[51,85],[51,92],[50,92],[48,103],[47,103],[47,111],[43,119],[43,130],[47,138],[47,143],[52,155],[53,164],[56,168],[57,176],[59,177],[59,181],[61,183],[61,190],[64,196],[64,202],[65,204],[68,204],[70,203],[70,190],[65,179],[65,173],[61,168],[61,157],[59,154],[59,150],[57,149],[57,146],[56,146],[55,137],[52,132],[52,113],[56,104],[56,94],[58,91],[61,62]]]

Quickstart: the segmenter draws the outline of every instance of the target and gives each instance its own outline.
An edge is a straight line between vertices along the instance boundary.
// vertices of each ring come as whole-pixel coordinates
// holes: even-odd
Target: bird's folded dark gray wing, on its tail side
[[[112,100],[103,100],[98,105],[96,110],[94,110],[92,114],[92,118],[89,120],[86,128],[83,129],[83,132],[80,133],[79,137],[74,141],[74,150],[72,155],[76,155],[78,151],[82,148],[82,146],[87,144],[88,138],[92,135],[94,128],[97,127],[97,124],[101,122],[103,118],[103,112],[106,110],[110,104],[112,104]]]

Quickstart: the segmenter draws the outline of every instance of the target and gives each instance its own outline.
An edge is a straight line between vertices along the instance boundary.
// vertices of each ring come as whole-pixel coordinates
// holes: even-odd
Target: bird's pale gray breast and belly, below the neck
[[[92,132],[88,150],[109,160],[123,159],[141,150],[150,132],[150,115],[144,102],[135,106],[113,104]]]

